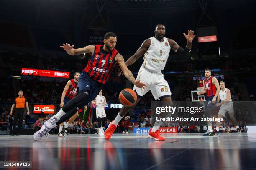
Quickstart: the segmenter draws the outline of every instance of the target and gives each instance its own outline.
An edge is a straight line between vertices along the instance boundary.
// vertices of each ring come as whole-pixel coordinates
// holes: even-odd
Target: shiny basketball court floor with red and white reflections
[[[256,134],[0,136],[0,161],[30,161],[33,170],[240,170],[256,169]],[[0,168],[7,169],[7,168]],[[11,169],[11,168],[10,168]],[[30,169],[30,168],[17,168]]]

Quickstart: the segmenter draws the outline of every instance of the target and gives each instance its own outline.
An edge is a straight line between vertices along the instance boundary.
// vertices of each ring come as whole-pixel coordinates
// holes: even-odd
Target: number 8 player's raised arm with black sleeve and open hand
[[[185,33],[183,33],[184,37],[187,39],[187,46],[185,47],[185,49],[180,47],[177,44],[177,42],[175,42],[174,40],[168,38],[168,42],[172,46],[172,50],[174,50],[175,52],[177,52],[179,55],[181,55],[183,57],[189,57],[190,56],[192,41],[195,38],[194,31],[187,30],[187,32],[188,32],[187,35]],[[194,60],[194,58],[192,58],[192,57],[191,57],[191,59]]]

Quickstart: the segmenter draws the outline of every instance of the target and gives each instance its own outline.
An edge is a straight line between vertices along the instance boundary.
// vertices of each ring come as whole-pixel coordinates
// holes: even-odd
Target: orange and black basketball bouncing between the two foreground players
[[[137,101],[136,92],[131,89],[123,89],[119,93],[119,101],[124,106],[133,106]]]

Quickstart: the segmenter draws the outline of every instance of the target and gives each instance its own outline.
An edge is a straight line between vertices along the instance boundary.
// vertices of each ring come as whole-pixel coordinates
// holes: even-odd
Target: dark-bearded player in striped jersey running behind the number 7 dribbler
[[[69,102],[69,100],[77,96],[79,77],[80,77],[80,72],[75,72],[74,79],[71,79],[67,82],[61,95],[61,103],[60,103],[61,108],[64,107],[64,105],[66,105],[67,102]],[[72,123],[77,118],[77,116],[78,116],[78,112],[76,112],[76,114],[70,117],[68,123],[65,125],[65,128],[68,128],[69,124]],[[65,133],[64,133],[63,124],[64,123],[59,124],[59,133],[58,133],[59,137],[65,137],[65,133],[68,135],[67,130],[65,130]]]

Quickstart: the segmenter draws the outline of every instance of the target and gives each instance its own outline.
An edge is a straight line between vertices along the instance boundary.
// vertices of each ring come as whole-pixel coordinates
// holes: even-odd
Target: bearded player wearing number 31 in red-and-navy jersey
[[[205,80],[203,80],[203,90],[197,92],[197,95],[202,95],[206,93],[206,110],[205,115],[211,117],[211,112],[215,107],[215,102],[220,92],[220,85],[217,78],[211,76],[211,70],[209,68],[205,69]],[[212,129],[212,122],[208,123],[208,130],[204,136],[214,136],[214,130]]]

